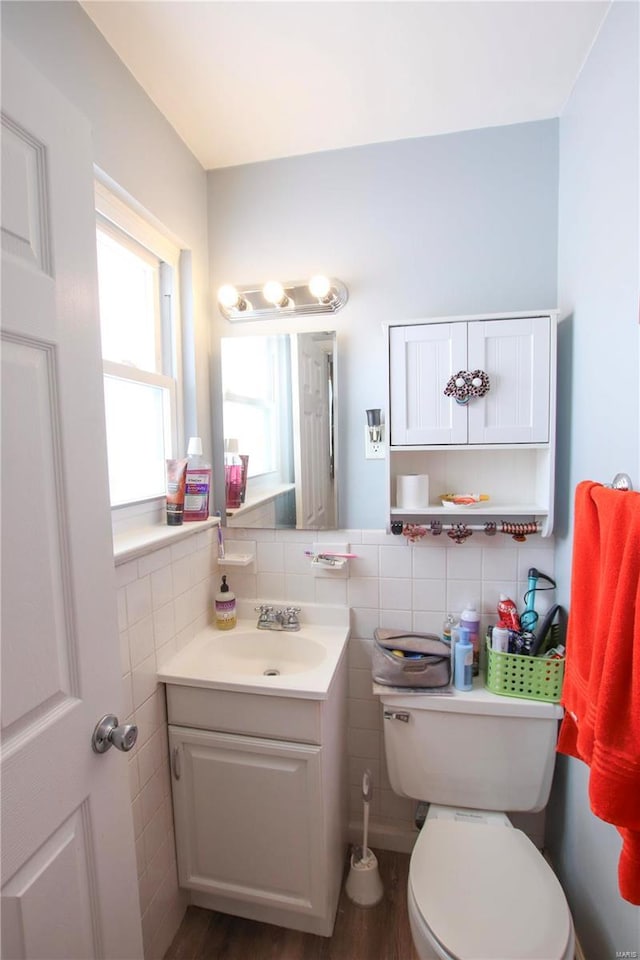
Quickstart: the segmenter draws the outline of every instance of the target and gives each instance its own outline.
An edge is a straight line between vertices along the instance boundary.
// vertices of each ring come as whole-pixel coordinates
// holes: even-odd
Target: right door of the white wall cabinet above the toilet
[[[491,380],[468,404],[469,443],[547,442],[549,326],[549,317],[469,323],[469,369]]]

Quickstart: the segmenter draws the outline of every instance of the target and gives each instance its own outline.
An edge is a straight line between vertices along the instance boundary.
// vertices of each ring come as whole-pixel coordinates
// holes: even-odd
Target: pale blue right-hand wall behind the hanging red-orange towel
[[[560,120],[556,578],[568,605],[580,480],[640,488],[638,5],[615,2]],[[622,494],[621,494],[622,496]],[[622,532],[621,532],[622,535]],[[588,960],[640,956],[640,910],[620,898],[620,838],[589,810],[588,768],[559,757],[551,853]]]

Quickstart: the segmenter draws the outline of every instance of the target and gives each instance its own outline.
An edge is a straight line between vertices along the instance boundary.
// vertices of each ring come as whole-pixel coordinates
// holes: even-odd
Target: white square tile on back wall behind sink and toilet
[[[495,622],[501,592],[522,605],[529,567],[553,576],[553,541],[534,536],[516,543],[502,534],[474,534],[463,544],[446,535],[410,544],[384,531],[333,532],[324,538],[348,542],[358,558],[349,561],[348,579],[332,581],[315,578],[304,558],[322,534],[234,529],[233,536],[235,542],[227,541],[229,552],[246,550],[247,540],[258,541],[256,573],[241,568],[229,573],[238,596],[351,607],[347,748],[352,838],[360,835],[362,773],[368,768],[374,783],[372,838],[379,846],[410,849],[415,804],[396,796],[387,779],[381,708],[371,689],[373,631],[385,626],[439,633],[445,614],[459,613],[469,602],[481,611],[484,630]]]

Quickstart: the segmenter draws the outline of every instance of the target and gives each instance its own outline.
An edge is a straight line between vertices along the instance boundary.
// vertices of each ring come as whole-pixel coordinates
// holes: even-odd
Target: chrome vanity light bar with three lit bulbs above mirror
[[[341,280],[316,275],[308,282],[269,280],[262,287],[224,284],[218,290],[220,313],[230,323],[336,313],[349,298]]]

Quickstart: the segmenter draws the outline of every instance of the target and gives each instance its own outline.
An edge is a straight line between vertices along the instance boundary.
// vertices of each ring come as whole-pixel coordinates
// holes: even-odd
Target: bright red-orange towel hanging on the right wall
[[[620,893],[640,905],[640,493],[578,484],[565,716],[558,750],[589,764],[589,801],[622,836]]]

